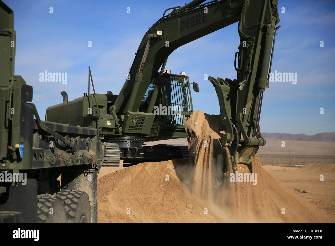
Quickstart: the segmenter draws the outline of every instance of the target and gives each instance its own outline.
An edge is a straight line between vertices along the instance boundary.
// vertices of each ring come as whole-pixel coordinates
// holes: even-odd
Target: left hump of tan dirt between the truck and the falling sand
[[[175,165],[183,160],[146,162],[98,179],[98,222],[217,222],[206,204],[180,182]]]

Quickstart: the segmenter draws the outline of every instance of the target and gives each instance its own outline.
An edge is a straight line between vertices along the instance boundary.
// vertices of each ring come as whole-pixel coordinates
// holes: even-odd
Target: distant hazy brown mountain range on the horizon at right
[[[287,134],[287,133],[262,133],[265,140],[298,140],[298,141],[327,141],[335,142],[335,133],[318,133],[315,135]]]

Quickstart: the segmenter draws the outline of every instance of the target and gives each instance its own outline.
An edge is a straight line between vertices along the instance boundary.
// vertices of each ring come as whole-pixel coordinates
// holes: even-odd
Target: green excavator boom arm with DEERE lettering
[[[171,14],[162,17],[153,24],[143,36],[136,52],[129,71],[130,76],[127,78],[130,79],[126,80],[114,103],[116,112],[124,114],[126,111],[137,111],[159,67],[174,50],[197,38],[239,21],[243,6],[243,0],[212,1],[194,6],[191,9],[181,8],[178,11],[172,11]],[[155,35],[157,30],[162,31],[162,36],[150,37]],[[149,48],[146,49],[148,39],[150,44]],[[144,55],[146,57],[142,65],[142,77],[139,86],[138,84],[136,85],[135,79],[141,68]],[[131,98],[133,89],[136,90],[136,93],[134,94],[135,97]]]

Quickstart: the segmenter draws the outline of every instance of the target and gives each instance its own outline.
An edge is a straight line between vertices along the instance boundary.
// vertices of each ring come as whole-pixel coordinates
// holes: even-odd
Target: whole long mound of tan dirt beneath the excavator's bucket
[[[189,191],[196,182],[190,182],[191,167],[183,160],[140,163],[115,171],[98,179],[98,222],[328,222],[326,213],[269,175],[257,155],[251,165],[258,173],[257,185],[229,182],[226,190],[212,186],[212,198]],[[244,164],[238,164],[236,170],[250,172]]]

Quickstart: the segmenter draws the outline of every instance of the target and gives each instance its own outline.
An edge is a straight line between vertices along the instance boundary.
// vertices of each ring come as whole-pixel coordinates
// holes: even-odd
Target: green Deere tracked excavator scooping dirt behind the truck
[[[175,148],[167,151],[168,146],[142,148],[141,145],[144,141],[186,137],[183,116],[193,112],[191,83],[185,72],[177,75],[165,71],[167,58],[180,46],[239,21],[237,79],[209,77],[208,80],[219,99],[221,123],[226,132],[222,146],[229,146],[232,163],[237,151],[238,162],[250,163],[258,147],[265,144],[259,118],[263,91],[268,88],[275,25],[279,22],[277,1],[202,2],[170,8],[173,10],[167,15],[170,9],[164,11],[163,17],[143,36],[119,95],[84,93],[70,102],[65,96],[64,103],[47,109],[46,120],[100,129],[106,153],[117,154],[119,148],[124,161],[171,159]],[[92,78],[90,72],[89,78]],[[198,84],[193,83],[193,88],[198,91]],[[154,107],[170,107],[179,115],[155,113]],[[93,113],[89,112],[91,108]],[[114,158],[118,165],[119,157]],[[113,165],[113,159],[104,164]]]

